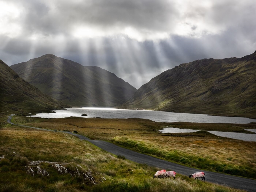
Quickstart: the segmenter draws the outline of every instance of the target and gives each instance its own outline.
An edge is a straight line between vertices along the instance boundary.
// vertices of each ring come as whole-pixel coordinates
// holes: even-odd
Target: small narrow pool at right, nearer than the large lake
[[[245,129],[245,130],[256,133],[255,129]],[[196,132],[196,131],[199,131],[199,130],[180,129],[180,128],[173,128],[173,127],[167,127],[167,128],[164,128],[163,130],[160,130],[161,133],[190,133],[190,132]],[[208,131],[208,132],[220,137],[228,137],[228,138],[244,140],[244,141],[256,141],[256,134],[221,132],[221,131]]]

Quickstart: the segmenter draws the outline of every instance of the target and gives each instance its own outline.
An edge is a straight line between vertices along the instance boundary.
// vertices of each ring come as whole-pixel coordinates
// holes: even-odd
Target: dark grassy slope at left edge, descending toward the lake
[[[67,107],[20,78],[2,60],[0,60],[0,98],[0,114],[2,115],[45,112]]]

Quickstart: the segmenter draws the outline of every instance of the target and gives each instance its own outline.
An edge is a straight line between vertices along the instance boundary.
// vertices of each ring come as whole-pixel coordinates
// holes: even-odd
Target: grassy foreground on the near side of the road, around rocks
[[[223,191],[239,192],[177,174],[173,179],[153,179],[157,168],[111,155],[89,142],[65,133],[44,132],[6,125],[0,128],[0,156],[16,152],[20,157],[0,160],[0,191]],[[79,164],[90,169],[97,185],[85,185],[81,178],[58,174],[45,166],[49,176],[26,174],[28,161],[44,160]],[[106,180],[100,182],[100,175]]]

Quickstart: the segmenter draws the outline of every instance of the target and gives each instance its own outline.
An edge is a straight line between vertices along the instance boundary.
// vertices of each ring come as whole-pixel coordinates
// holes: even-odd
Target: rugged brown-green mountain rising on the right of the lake
[[[255,118],[255,74],[256,51],[180,64],[142,85],[121,108]]]

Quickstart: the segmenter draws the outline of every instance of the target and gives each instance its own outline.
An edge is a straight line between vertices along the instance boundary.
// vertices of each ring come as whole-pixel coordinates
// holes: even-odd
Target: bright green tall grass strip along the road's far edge
[[[127,137],[115,137],[110,141],[117,145],[130,148],[144,154],[161,157],[179,164],[256,179],[256,168],[254,166],[255,164],[241,164],[240,166],[238,166],[236,164],[228,163],[231,162],[232,157],[229,157],[229,160],[221,162],[220,160],[214,160],[209,157],[200,157],[198,156],[198,154],[195,153],[193,154],[183,152],[179,149],[166,150],[164,147],[161,148],[158,145],[148,144],[141,140],[132,140]],[[200,150],[200,148],[202,148],[203,146],[198,147]]]

